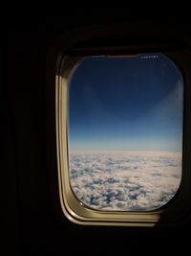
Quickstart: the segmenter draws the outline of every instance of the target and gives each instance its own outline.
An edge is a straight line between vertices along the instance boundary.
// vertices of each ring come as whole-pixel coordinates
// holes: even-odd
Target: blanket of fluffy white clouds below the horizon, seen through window
[[[75,152],[70,155],[74,194],[94,209],[149,211],[180,186],[179,152]]]

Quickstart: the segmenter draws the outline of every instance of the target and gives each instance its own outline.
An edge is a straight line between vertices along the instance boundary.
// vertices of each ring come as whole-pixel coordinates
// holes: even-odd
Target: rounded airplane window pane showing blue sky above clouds
[[[180,186],[183,79],[163,54],[86,57],[69,80],[69,173],[97,210],[149,211]]]

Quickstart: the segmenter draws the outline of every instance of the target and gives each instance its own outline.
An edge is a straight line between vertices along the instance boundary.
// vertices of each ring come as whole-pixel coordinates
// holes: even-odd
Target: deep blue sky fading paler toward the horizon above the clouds
[[[88,57],[72,73],[72,151],[181,151],[183,80],[170,58]]]

